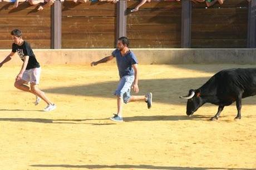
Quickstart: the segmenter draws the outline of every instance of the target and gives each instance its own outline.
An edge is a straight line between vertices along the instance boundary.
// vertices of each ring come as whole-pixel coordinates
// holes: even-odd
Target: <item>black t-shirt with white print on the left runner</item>
[[[26,69],[31,69],[31,68],[39,68],[40,64],[36,60],[36,56],[32,51],[32,48],[30,47],[29,43],[26,41],[23,42],[21,46],[18,46],[17,44],[13,43],[12,44],[12,52],[15,53],[17,52],[19,55],[19,58],[24,62],[24,57],[29,56],[28,58],[28,64]]]

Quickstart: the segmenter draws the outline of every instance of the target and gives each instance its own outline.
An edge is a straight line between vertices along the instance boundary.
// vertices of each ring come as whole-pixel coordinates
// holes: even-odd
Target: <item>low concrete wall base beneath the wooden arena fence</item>
[[[109,56],[114,49],[35,49],[41,65],[90,64]],[[140,64],[256,64],[256,48],[239,49],[131,49]],[[0,61],[11,50],[0,50]],[[111,61],[115,63],[115,59]],[[17,54],[8,65],[21,64]]]

